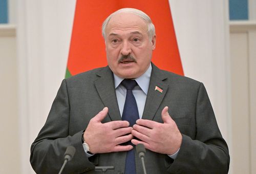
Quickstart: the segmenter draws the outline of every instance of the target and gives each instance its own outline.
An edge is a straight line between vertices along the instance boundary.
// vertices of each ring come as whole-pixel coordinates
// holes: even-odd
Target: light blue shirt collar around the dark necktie
[[[144,74],[142,74],[140,77],[134,79],[140,86],[141,90],[147,94],[148,86],[150,85],[150,77],[152,72],[152,65],[150,64],[150,67],[146,70]],[[114,74],[114,73],[113,73]],[[115,89],[119,86],[119,84],[123,81],[124,78],[118,77],[114,74],[114,81],[115,81]]]

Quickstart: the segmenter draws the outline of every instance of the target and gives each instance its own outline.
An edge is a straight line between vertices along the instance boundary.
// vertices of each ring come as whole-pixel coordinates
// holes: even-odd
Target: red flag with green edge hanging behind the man
[[[66,78],[107,65],[101,25],[121,8],[136,8],[151,17],[157,35],[152,61],[160,69],[183,75],[168,0],[77,0]]]

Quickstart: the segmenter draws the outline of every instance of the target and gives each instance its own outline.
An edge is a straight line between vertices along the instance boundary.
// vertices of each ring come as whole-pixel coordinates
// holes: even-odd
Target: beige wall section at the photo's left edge
[[[17,59],[14,26],[0,25],[0,173],[19,173]]]

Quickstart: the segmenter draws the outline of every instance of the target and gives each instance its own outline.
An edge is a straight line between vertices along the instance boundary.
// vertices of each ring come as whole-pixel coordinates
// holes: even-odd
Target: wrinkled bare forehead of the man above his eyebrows
[[[147,24],[140,16],[133,13],[118,13],[111,17],[105,32],[109,35],[111,32],[118,31],[139,31],[140,33],[146,33]]]

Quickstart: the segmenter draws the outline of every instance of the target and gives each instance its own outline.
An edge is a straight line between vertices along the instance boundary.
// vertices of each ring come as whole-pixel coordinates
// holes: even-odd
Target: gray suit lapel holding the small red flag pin
[[[153,63],[152,63],[152,73],[151,73],[151,80],[150,86],[148,87],[146,103],[143,111],[142,118],[152,120],[168,90],[168,85],[164,83],[164,80],[167,77],[163,75],[161,70],[159,70]],[[156,89],[156,86],[160,88],[162,91],[159,92]]]

